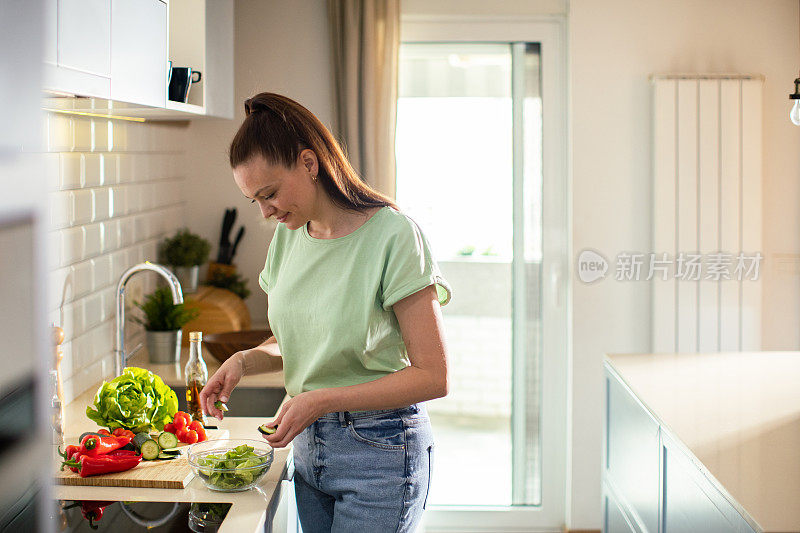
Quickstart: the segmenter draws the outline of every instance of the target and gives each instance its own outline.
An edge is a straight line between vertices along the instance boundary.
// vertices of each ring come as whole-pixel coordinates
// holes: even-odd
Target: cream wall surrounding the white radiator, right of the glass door
[[[774,266],[775,254],[800,253],[800,128],[788,119],[798,2],[572,0],[569,21],[575,253],[650,250],[649,74],[766,76],[763,347],[798,349],[798,277]],[[647,351],[649,317],[644,282],[574,282],[572,528],[601,523],[603,354]]]

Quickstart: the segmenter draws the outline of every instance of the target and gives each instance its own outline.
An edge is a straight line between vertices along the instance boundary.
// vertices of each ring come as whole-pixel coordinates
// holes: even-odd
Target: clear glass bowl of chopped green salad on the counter
[[[253,488],[269,472],[272,446],[251,439],[215,439],[192,444],[187,453],[194,475],[220,492]]]

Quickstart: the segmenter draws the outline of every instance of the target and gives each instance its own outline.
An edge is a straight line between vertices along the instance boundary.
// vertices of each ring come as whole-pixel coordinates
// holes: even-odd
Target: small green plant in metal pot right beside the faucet
[[[197,317],[196,309],[172,303],[168,287],[147,295],[144,303],[134,302],[144,311],[144,320],[134,318],[145,329],[145,342],[151,363],[176,363],[181,356],[181,328]]]

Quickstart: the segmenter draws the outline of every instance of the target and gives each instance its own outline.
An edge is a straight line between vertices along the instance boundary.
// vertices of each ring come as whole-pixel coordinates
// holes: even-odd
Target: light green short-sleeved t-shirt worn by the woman
[[[258,281],[290,396],[405,368],[392,306],[432,284],[441,305],[451,294],[419,226],[390,207],[337,239],[278,224]]]

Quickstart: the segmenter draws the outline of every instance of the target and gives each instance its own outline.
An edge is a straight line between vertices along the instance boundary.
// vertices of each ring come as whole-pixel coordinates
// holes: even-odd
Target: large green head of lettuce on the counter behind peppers
[[[104,381],[86,416],[110,430],[162,431],[178,412],[178,397],[160,377],[144,368],[129,366],[122,375]]]

